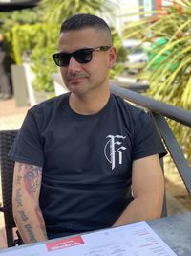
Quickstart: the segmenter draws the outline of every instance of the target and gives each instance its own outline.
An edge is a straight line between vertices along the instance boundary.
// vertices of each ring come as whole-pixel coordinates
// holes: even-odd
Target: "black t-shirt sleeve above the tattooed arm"
[[[36,120],[31,111],[20,128],[12,146],[9,156],[14,161],[43,166],[43,140],[37,127]]]

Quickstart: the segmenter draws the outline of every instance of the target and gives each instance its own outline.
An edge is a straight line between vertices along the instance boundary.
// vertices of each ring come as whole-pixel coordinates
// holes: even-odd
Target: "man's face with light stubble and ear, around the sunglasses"
[[[86,28],[60,34],[59,52],[73,53],[79,49],[111,46],[110,39],[95,29]],[[63,81],[71,92],[81,95],[105,87],[108,89],[109,70],[116,60],[113,47],[105,52],[92,52],[92,60],[79,63],[74,57],[66,67],[60,67]]]

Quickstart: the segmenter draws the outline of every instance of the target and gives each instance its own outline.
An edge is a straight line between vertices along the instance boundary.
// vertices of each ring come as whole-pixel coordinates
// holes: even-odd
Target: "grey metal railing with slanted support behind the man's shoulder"
[[[115,84],[111,84],[111,91],[121,96],[123,99],[150,111],[157,128],[159,129],[160,136],[180,173],[182,181],[187,191],[191,194],[191,168],[189,167],[188,162],[180,149],[180,145],[165,119],[165,117],[168,117],[191,128],[191,111],[161,103],[148,96],[122,88]]]

